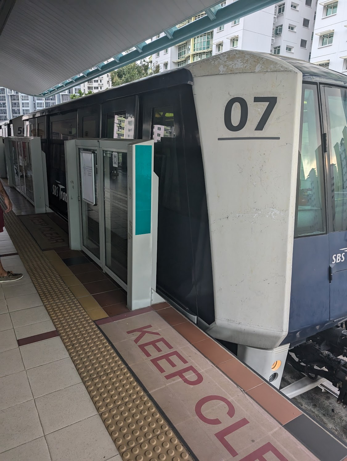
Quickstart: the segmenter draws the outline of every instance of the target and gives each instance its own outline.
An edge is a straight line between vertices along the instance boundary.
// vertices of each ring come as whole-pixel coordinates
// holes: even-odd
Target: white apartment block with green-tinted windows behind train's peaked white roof
[[[221,6],[229,5],[226,0]],[[205,34],[155,53],[151,59],[160,70],[173,69],[229,49],[281,54],[309,60],[317,0],[285,0],[238,18]],[[194,21],[205,13],[191,18]],[[163,34],[153,37],[159,38]]]

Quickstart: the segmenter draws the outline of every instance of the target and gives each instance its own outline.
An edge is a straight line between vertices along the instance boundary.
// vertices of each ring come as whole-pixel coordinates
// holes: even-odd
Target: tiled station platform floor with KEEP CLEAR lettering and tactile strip
[[[168,303],[129,311],[85,254],[43,251],[15,212],[0,234],[4,267],[24,273],[0,286],[0,461],[347,460]]]

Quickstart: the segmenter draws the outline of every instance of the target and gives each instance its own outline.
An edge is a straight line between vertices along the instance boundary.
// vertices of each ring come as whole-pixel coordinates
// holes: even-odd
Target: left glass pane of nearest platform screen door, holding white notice
[[[95,205],[91,205],[82,200],[82,183],[81,187],[81,209],[82,209],[82,244],[91,253],[100,259],[100,231],[99,231],[99,197],[98,197],[98,164],[96,151],[92,149],[79,148],[79,164],[81,165],[81,156],[83,152],[94,153],[94,189]],[[80,178],[83,172],[80,171]]]

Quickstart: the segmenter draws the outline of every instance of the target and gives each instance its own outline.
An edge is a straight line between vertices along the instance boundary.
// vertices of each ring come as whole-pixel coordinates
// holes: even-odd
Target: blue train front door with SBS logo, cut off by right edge
[[[347,317],[347,90],[323,87],[327,134],[330,320]]]

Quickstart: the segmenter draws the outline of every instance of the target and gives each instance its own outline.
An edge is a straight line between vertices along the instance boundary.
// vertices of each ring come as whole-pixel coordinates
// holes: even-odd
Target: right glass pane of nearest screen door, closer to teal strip
[[[127,283],[128,167],[127,153],[103,149],[105,196],[105,263]]]

